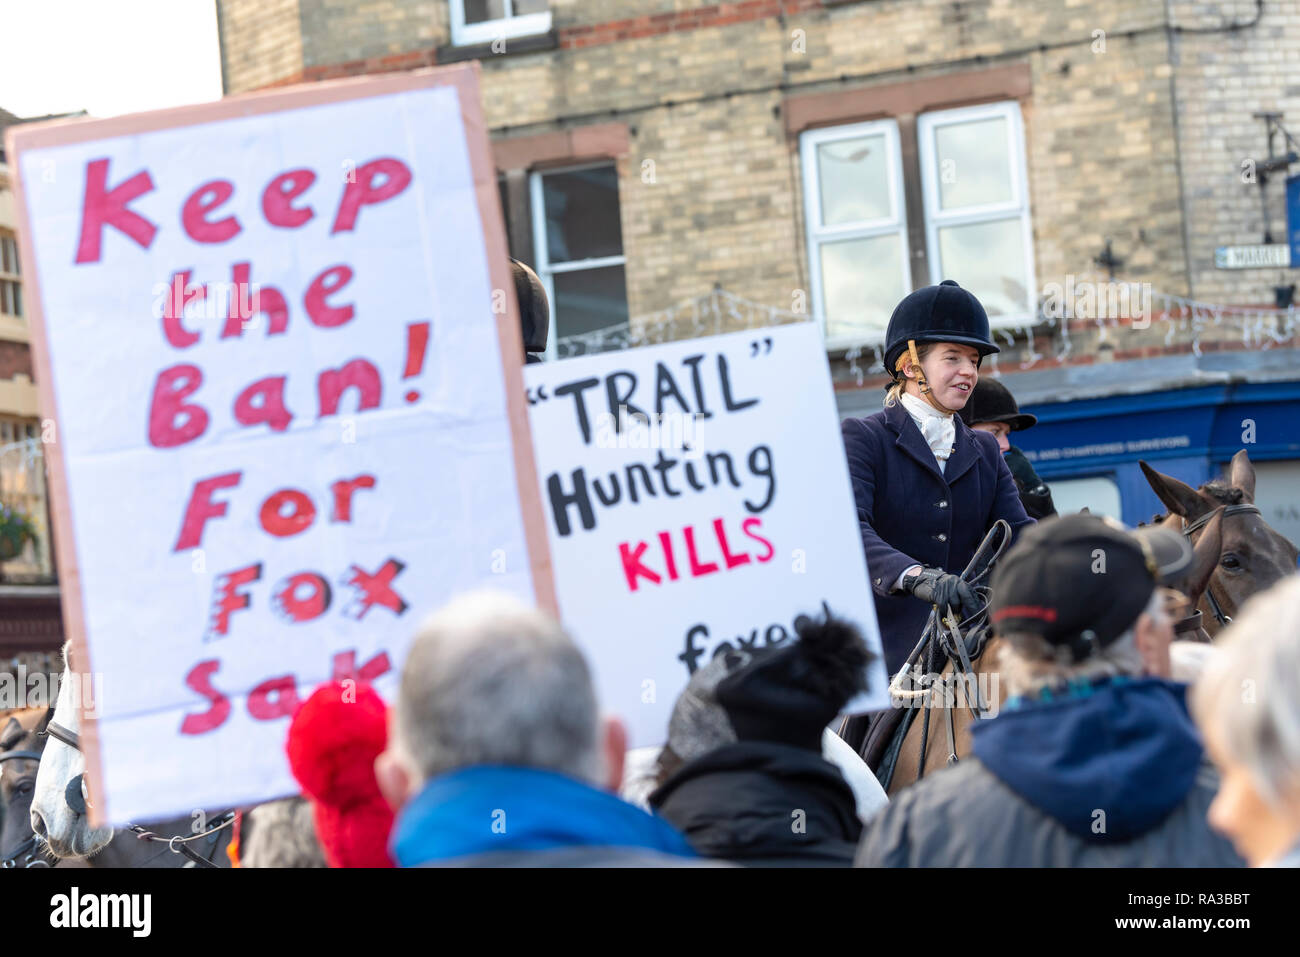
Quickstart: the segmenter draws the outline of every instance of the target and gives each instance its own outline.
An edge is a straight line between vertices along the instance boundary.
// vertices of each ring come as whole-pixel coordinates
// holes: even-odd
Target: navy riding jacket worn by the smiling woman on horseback
[[[942,473],[902,403],[840,424],[890,675],[930,616],[919,599],[890,593],[904,570],[961,573],[994,521],[1006,519],[1014,536],[1032,524],[997,439],[953,419],[957,434]]]

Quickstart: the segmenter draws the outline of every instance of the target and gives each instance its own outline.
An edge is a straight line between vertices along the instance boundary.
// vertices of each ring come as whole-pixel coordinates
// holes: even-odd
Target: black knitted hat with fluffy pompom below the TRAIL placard
[[[718,683],[719,706],[741,741],[822,750],[822,731],[866,689],[872,655],[858,629],[827,610],[800,616],[798,641],[755,654]]]

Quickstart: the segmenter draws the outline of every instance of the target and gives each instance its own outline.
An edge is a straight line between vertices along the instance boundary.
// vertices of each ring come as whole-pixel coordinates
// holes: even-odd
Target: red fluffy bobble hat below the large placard
[[[387,707],[358,681],[322,684],[289,726],[289,766],[311,798],[330,867],[393,867],[393,810],[374,780],[387,745]]]

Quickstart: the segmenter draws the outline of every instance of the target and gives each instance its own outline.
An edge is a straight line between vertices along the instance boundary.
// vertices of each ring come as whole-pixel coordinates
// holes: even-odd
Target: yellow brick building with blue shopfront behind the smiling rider
[[[1300,538],[1297,313],[1275,308],[1295,272],[1283,174],[1258,174],[1287,146],[1254,116],[1300,134],[1300,0],[217,9],[228,94],[481,62],[560,355],[810,315],[862,415],[893,304],[956,278],[1058,498],[1135,521],[1156,508],[1138,458],[1200,482],[1244,442]]]

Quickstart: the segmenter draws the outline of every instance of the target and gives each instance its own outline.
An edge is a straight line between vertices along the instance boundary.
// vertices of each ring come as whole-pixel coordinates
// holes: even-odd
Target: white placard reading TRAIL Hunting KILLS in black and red
[[[878,659],[854,710],[888,707],[875,605],[816,326],[525,369],[555,589],[632,746],[728,648],[826,609]]]

